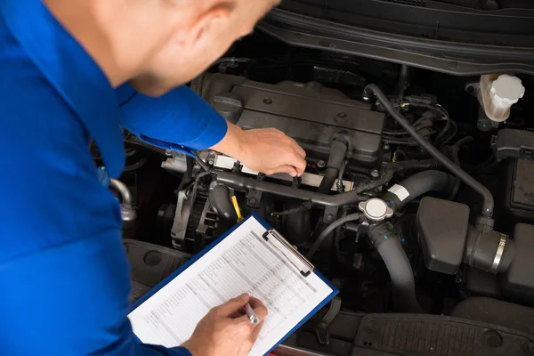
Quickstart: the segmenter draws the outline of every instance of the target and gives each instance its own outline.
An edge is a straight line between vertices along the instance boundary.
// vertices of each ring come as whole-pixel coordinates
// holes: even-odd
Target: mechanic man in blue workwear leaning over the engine
[[[167,350],[136,341],[116,199],[121,126],[173,150],[212,148],[266,174],[302,174],[276,130],[244,132],[187,87],[275,0],[0,1],[0,354],[246,355],[259,333],[241,295]],[[117,90],[116,90],[117,89]],[[272,144],[276,142],[276,144]],[[237,312],[237,314],[236,314]]]

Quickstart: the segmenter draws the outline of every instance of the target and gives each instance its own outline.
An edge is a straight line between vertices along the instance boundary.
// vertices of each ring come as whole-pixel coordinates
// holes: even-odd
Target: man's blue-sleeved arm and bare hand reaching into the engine
[[[295,176],[306,168],[304,150],[287,135],[275,129],[241,130],[187,86],[151,98],[123,85],[117,96],[122,125],[144,142],[166,150],[211,148],[265,174]]]

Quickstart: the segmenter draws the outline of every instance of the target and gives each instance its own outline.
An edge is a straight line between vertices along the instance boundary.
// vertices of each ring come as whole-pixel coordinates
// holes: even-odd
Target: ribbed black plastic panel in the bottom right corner
[[[510,328],[441,315],[368,314],[354,346],[402,356],[522,356],[534,338]],[[359,356],[354,349],[352,356]]]

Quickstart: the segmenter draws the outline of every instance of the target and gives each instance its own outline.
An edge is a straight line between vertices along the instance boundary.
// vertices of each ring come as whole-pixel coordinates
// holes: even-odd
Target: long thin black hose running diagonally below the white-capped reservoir
[[[466,174],[465,171],[459,166],[455,165],[449,158],[441,153],[440,150],[436,149],[430,142],[426,141],[425,137],[417,134],[415,128],[409,125],[408,120],[403,117],[395,108],[391,101],[385,96],[385,94],[380,90],[377,85],[371,84],[366,86],[364,97],[370,97],[368,93],[374,93],[376,99],[380,101],[384,109],[402,126],[409,134],[417,141],[430,155],[438,159],[445,168],[447,168],[452,174],[455,174],[458,178],[462,180],[466,185],[471,187],[473,190],[481,194],[483,198],[482,212],[481,214],[486,217],[493,216],[493,209],[495,206],[493,196],[491,195],[490,190],[484,187],[480,182],[477,182],[471,175]]]

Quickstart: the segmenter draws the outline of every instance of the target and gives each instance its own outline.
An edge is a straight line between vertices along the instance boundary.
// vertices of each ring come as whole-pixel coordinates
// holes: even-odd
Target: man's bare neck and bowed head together
[[[189,82],[280,0],[43,0],[106,72],[160,95]]]

